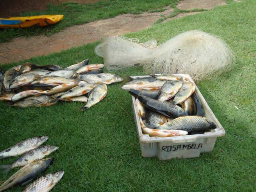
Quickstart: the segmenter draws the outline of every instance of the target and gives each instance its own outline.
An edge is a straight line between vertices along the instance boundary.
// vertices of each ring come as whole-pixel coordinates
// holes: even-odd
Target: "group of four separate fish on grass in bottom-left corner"
[[[43,158],[56,151],[58,147],[48,145],[40,146],[46,140],[48,140],[48,136],[29,138],[0,152],[0,159],[22,155],[11,165],[0,166],[0,168],[4,169],[4,172],[8,172],[10,169],[16,167],[22,167],[8,180],[4,181],[2,186],[0,186],[0,192],[12,186],[24,186],[48,168],[54,158]],[[58,183],[63,174],[64,171],[46,174],[28,185],[24,192],[48,192]]]

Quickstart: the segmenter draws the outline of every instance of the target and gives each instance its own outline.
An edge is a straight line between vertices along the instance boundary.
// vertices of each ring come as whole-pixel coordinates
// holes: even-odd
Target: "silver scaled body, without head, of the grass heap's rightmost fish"
[[[115,74],[111,74],[111,73],[85,74],[85,75],[80,75],[80,79],[88,83],[97,83],[97,82],[104,82],[106,80],[110,80],[114,76]]]

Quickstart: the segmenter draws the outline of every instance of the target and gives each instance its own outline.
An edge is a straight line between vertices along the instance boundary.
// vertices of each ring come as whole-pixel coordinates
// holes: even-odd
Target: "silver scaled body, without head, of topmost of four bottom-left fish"
[[[4,154],[6,153],[10,154],[11,156],[24,154],[25,152],[28,152],[38,147],[38,145],[36,145],[37,141],[38,141],[38,137],[33,137],[33,138],[26,139],[22,142],[19,142],[18,144],[0,152],[0,157],[4,156]]]

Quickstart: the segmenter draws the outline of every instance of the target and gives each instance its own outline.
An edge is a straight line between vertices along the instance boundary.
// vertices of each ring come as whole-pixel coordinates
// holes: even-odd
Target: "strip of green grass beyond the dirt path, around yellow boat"
[[[172,0],[176,2],[178,0]],[[22,16],[62,14],[64,19],[51,26],[32,26],[30,28],[0,29],[0,43],[18,36],[44,34],[50,36],[72,25],[85,24],[91,21],[107,19],[124,13],[139,14],[142,12],[162,12],[162,7],[170,5],[170,0],[108,0],[95,4],[78,4],[66,2],[61,5],[48,4],[47,10],[28,12]]]

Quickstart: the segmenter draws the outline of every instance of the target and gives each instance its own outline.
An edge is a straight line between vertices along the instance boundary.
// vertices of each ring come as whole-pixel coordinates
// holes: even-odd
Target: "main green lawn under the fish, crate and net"
[[[223,38],[236,54],[232,71],[202,80],[198,87],[226,130],[214,150],[199,158],[160,161],[142,158],[131,107],[131,96],[119,84],[108,86],[99,104],[80,112],[81,103],[58,103],[45,108],[12,108],[0,103],[0,148],[36,135],[48,135],[47,144],[60,148],[47,173],[64,170],[52,190],[82,191],[256,191],[256,1],[230,3],[208,12],[171,20],[129,34],[142,42],[159,43],[187,30],[200,29]],[[94,44],[32,58],[38,64],[68,66],[85,58],[103,62]],[[17,65],[4,65],[10,68]],[[118,71],[142,75],[140,67]],[[122,108],[119,107],[122,106]],[[235,108],[238,107],[238,109]],[[0,160],[10,164],[16,158]],[[17,169],[16,169],[17,170]],[[0,173],[0,178],[9,174]],[[22,188],[12,188],[13,192]]]

